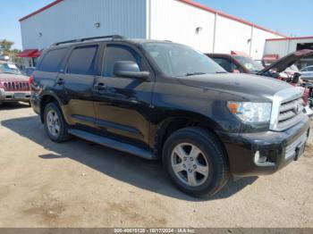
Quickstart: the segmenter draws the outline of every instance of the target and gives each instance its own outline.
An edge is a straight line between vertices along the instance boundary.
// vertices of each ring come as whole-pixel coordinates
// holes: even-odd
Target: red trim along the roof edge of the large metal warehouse
[[[205,10],[205,11],[210,12],[210,13],[216,13],[218,15],[221,15],[221,16],[223,16],[225,18],[228,18],[228,19],[231,19],[233,21],[238,21],[238,22],[241,22],[243,24],[247,24],[249,26],[255,27],[257,29],[261,29],[261,30],[265,30],[267,32],[273,33],[273,34],[275,34],[277,36],[280,36],[280,37],[283,37],[283,38],[287,38],[287,36],[285,36],[285,35],[283,35],[281,33],[275,32],[275,31],[270,30],[270,29],[263,28],[261,26],[258,26],[257,24],[251,23],[250,21],[244,21],[244,20],[241,20],[241,19],[239,19],[237,17],[234,17],[232,15],[229,15],[229,14],[226,14],[226,13],[222,13],[222,12],[218,12],[218,11],[216,11],[216,10],[214,10],[212,8],[209,8],[209,7],[207,7],[207,6],[203,5],[203,4],[199,4],[199,3],[193,2],[191,0],[179,0],[179,1],[182,2],[182,3],[185,3],[185,4],[193,5],[195,7],[198,7],[200,9]],[[30,13],[29,15],[26,15],[25,17],[21,18],[20,21],[24,21],[26,19],[29,19],[31,16],[33,16],[35,14],[38,14],[38,13],[41,13],[41,12],[44,12],[48,8],[54,6],[55,4],[59,4],[61,2],[63,2],[63,0],[56,0],[55,2],[53,2],[51,4],[47,4],[46,6],[40,8],[38,11],[36,11],[34,13]]]

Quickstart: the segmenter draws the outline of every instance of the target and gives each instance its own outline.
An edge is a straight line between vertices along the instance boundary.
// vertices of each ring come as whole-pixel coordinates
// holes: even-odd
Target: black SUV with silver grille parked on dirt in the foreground
[[[31,104],[53,141],[73,135],[162,159],[178,188],[213,195],[230,175],[297,160],[309,137],[302,90],[250,76],[169,41],[83,38],[47,48]]]

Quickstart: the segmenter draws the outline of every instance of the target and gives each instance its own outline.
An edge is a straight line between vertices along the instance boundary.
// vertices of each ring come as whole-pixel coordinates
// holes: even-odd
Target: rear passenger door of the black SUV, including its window
[[[93,85],[101,44],[74,46],[57,84],[63,87],[63,112],[71,125],[95,126]]]

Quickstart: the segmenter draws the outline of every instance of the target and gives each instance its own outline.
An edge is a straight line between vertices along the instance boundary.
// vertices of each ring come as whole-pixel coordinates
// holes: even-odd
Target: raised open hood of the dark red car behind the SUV
[[[277,73],[281,73],[285,71],[288,67],[292,66],[292,64],[299,61],[301,58],[305,56],[313,55],[313,50],[304,49],[288,54],[278,60],[277,62],[267,66],[265,69],[258,71],[258,75],[264,75],[266,72],[270,70],[275,70]]]

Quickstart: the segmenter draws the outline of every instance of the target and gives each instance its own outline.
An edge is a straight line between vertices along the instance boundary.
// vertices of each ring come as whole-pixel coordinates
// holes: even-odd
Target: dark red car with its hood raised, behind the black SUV
[[[300,71],[294,65],[294,63],[300,61],[300,59],[303,57],[310,56],[312,54],[312,50],[297,51],[286,55],[282,59],[266,67],[263,67],[261,64],[252,60],[250,57],[242,55],[207,54],[207,56],[212,58],[228,72],[256,74],[260,76],[281,79],[290,83],[292,86],[299,86]],[[305,88],[303,92],[305,112],[308,113],[309,116],[312,116],[313,107],[310,106],[310,100],[312,98],[310,94],[312,94],[311,88]]]

